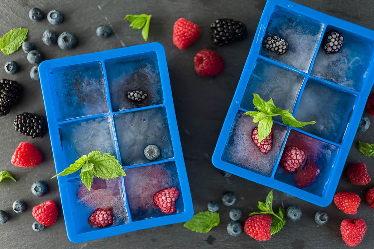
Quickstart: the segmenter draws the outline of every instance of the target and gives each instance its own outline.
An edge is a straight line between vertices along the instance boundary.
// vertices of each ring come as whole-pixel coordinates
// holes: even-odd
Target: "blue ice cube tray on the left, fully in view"
[[[106,181],[106,188],[113,187],[113,196],[120,202],[113,205],[125,218],[117,221],[113,214],[114,224],[104,228],[88,224],[88,217],[95,208],[92,203],[91,206],[80,203],[79,194],[87,194],[82,199],[85,203],[90,202],[91,197],[81,188],[79,172],[58,177],[67,235],[72,242],[190,220],[193,215],[191,193],[165,50],[160,43],[46,60],[39,65],[39,75],[56,172],[92,150],[101,150],[116,156],[128,175]],[[143,90],[148,96],[135,103],[127,98],[129,90]],[[161,155],[156,161],[145,159],[143,150],[147,144],[160,147]],[[153,167],[157,170],[152,171]],[[132,193],[126,189],[136,169],[141,169],[142,174],[156,172],[157,184],[179,189],[177,212],[166,215],[154,206],[149,212],[132,210],[131,202],[136,206],[137,200],[130,198]],[[136,184],[138,188],[147,189],[150,183],[138,179]],[[105,198],[108,197],[103,196],[102,201],[111,202]]]

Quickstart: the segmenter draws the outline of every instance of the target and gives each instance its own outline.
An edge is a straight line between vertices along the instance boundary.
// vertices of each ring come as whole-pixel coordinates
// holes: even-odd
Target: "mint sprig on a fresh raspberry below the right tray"
[[[286,213],[284,208],[279,207],[278,212],[276,213],[273,211],[273,189],[269,192],[269,194],[267,194],[265,203],[259,201],[257,207],[261,212],[252,212],[249,214],[249,216],[256,214],[271,214],[276,218],[273,219],[272,225],[270,227],[271,235],[278,233],[279,230],[282,229],[284,224],[286,224],[286,221],[283,220],[283,217]]]

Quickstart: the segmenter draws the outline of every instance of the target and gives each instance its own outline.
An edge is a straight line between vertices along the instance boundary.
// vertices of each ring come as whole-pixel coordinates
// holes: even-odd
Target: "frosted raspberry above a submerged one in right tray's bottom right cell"
[[[281,158],[282,167],[289,173],[300,167],[305,158],[305,153],[298,147],[286,147]]]

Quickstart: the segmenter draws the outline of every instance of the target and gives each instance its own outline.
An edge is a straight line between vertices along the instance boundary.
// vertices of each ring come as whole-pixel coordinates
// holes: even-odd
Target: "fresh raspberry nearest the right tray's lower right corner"
[[[338,209],[346,214],[357,214],[361,199],[356,193],[339,192],[334,196],[334,203]]]

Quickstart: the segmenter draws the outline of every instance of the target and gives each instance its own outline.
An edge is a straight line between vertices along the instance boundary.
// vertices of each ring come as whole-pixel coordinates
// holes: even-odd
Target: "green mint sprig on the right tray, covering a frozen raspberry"
[[[260,143],[272,132],[273,116],[282,116],[283,123],[292,127],[303,127],[304,125],[316,123],[316,121],[297,121],[289,110],[277,108],[271,98],[265,102],[256,93],[253,94],[253,104],[258,111],[246,112],[245,114],[252,116],[253,122],[258,123],[258,141]]]

